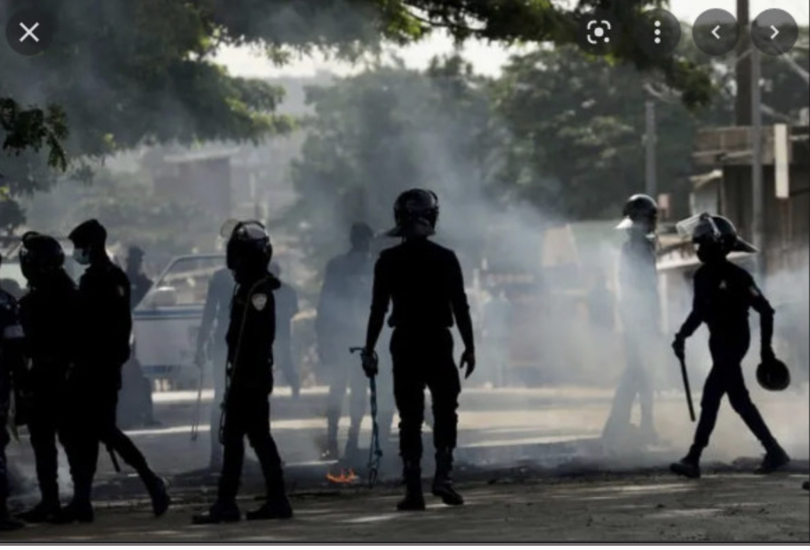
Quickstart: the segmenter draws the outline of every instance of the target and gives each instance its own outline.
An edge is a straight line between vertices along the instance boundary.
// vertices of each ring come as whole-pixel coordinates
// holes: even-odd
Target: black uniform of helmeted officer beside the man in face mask
[[[65,423],[75,405],[70,400],[67,375],[76,358],[79,292],[73,279],[59,270],[23,296],[19,310],[26,354],[31,359],[27,377],[31,394],[28,431],[42,496],[40,506],[32,509],[25,519],[43,521],[59,509],[57,437],[69,451],[71,467],[76,466]]]

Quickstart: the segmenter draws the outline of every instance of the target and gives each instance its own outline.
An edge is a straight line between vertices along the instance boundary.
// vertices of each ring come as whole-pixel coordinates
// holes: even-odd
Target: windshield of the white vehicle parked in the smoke
[[[224,256],[177,258],[137,309],[204,305],[211,275],[224,265]]]

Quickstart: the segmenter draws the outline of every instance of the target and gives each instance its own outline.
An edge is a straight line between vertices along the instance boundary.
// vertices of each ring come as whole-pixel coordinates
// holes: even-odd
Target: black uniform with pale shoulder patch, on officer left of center
[[[268,499],[283,494],[279,450],[270,433],[273,391],[275,299],[279,279],[263,274],[237,286],[231,305],[228,342],[229,384],[225,397],[224,461],[218,501],[235,503],[245,436],[254,448],[264,474]]]

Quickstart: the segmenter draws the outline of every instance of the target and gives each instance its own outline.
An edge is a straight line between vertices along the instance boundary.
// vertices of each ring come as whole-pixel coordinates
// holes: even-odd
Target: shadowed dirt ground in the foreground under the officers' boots
[[[118,542],[810,542],[806,475],[706,475],[681,480],[649,475],[497,478],[459,484],[467,504],[428,497],[424,512],[398,513],[394,486],[341,488],[292,495],[295,518],[192,526],[204,507],[177,494],[162,518],[147,501],[107,501],[91,525],[32,526],[12,541]],[[243,509],[258,505],[243,499]]]

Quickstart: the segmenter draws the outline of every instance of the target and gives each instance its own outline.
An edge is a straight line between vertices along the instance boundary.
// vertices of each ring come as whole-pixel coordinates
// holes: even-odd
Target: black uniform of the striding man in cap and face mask
[[[149,468],[146,458],[116,424],[118,390],[122,365],[130,356],[130,281],[118,266],[104,255],[92,263],[79,281],[82,322],[79,327],[79,362],[72,376],[83,397],[83,425],[75,426],[92,435],[83,454],[86,468],[83,480],[92,482],[98,460],[98,443],[114,450],[134,467],[149,491],[156,514],[168,507],[163,480]],[[89,501],[90,487],[83,497]]]

